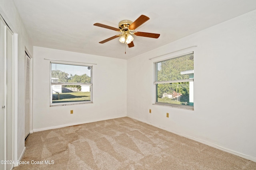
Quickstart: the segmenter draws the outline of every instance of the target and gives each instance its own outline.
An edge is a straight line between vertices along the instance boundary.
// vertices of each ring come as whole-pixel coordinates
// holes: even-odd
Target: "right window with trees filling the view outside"
[[[155,64],[156,103],[194,108],[194,53]]]

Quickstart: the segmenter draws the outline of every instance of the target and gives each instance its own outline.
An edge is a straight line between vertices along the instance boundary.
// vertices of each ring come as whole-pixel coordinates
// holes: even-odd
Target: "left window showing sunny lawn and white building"
[[[50,63],[50,105],[92,103],[92,66]]]

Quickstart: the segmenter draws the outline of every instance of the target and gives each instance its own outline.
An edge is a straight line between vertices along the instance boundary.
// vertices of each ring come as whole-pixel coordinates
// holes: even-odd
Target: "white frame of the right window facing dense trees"
[[[176,59],[185,55],[189,55],[189,54],[193,54],[193,58],[194,58],[194,51],[191,51],[189,53],[184,53],[181,55],[176,55],[173,57],[168,57],[159,61],[154,61],[154,104],[153,105],[159,105],[159,106],[168,106],[168,107],[176,107],[176,108],[181,108],[181,109],[188,109],[188,110],[194,110],[194,105],[193,106],[188,106],[188,105],[182,105],[182,104],[170,104],[170,103],[164,103],[164,102],[157,102],[158,99],[158,89],[157,89],[157,85],[158,84],[170,84],[170,83],[177,83],[177,82],[193,82],[193,103],[194,103],[194,69],[193,69],[193,78],[189,78],[189,79],[180,79],[180,80],[168,80],[168,81],[157,81],[157,63],[163,62],[163,61],[168,61],[168,60],[172,60],[172,59]],[[194,68],[194,63],[193,63],[193,68]],[[184,71],[186,72],[186,71]]]

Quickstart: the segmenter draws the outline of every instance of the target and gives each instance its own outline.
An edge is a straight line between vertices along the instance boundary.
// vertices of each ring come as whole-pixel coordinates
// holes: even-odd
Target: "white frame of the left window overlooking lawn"
[[[52,63],[54,64],[67,64],[67,65],[76,65],[76,66],[90,66],[90,83],[73,83],[73,82],[52,82]],[[50,107],[51,106],[67,106],[67,105],[76,105],[76,104],[90,104],[93,103],[92,102],[92,65],[90,64],[86,64],[86,63],[72,63],[72,62],[62,62],[62,61],[58,61],[58,62],[52,62],[50,61]],[[86,86],[90,86],[90,101],[77,101],[77,102],[59,102],[59,103],[52,103],[52,86],[53,85],[86,85]]]

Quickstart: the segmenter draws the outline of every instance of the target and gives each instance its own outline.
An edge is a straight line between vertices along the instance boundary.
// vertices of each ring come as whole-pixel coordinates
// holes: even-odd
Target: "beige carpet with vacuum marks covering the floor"
[[[32,133],[25,145],[30,164],[14,170],[256,170],[256,162],[128,117]]]

